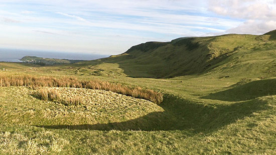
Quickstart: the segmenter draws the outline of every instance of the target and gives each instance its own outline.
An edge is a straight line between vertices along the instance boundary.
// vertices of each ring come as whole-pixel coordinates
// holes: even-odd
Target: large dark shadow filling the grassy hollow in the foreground
[[[208,133],[224,125],[250,116],[252,112],[268,108],[266,102],[254,99],[233,104],[207,106],[172,95],[166,95],[160,104],[164,112],[152,112],[145,116],[123,122],[45,125],[45,128],[92,129],[92,130],[191,130]]]

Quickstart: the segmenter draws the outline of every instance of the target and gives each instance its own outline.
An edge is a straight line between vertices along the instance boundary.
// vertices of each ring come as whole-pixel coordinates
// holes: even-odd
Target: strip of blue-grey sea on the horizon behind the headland
[[[78,59],[78,60],[93,60],[109,55],[93,54],[93,53],[79,53],[79,52],[56,52],[44,50],[27,50],[27,49],[11,49],[0,48],[0,61],[20,62],[24,56],[38,56],[45,58],[65,58],[65,59]]]

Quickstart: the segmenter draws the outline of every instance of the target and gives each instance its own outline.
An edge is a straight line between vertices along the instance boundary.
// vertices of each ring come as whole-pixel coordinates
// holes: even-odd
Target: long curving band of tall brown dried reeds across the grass
[[[163,101],[163,94],[151,89],[141,87],[129,87],[118,83],[110,83],[101,80],[80,80],[74,77],[56,78],[52,76],[31,75],[0,75],[0,86],[49,86],[49,87],[76,87],[113,91],[128,96],[143,98],[155,103]]]

